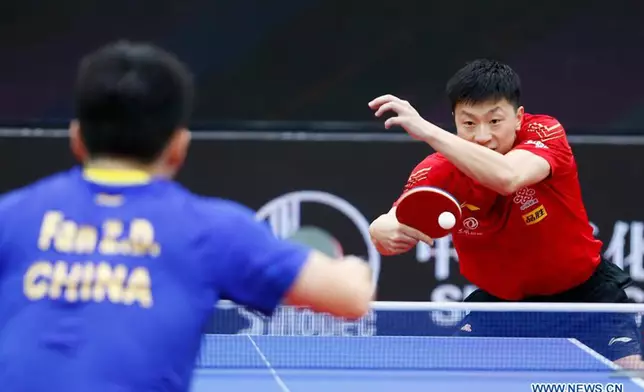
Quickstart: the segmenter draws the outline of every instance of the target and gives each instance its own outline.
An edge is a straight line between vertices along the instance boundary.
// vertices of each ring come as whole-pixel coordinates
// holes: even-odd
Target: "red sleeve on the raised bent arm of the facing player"
[[[523,125],[519,138],[514,149],[530,151],[548,161],[552,177],[575,170],[566,132],[556,119],[535,116]]]

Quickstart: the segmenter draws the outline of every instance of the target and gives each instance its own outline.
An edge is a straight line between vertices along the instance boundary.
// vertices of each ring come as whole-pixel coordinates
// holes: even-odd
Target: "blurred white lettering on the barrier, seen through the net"
[[[315,313],[309,309],[279,308],[271,318],[265,318],[239,308],[239,315],[249,325],[238,332],[240,335],[274,336],[374,336],[376,313],[370,311],[365,317],[349,321],[328,314]]]

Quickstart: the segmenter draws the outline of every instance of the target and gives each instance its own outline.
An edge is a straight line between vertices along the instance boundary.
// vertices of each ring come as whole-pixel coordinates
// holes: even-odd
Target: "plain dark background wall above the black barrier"
[[[639,0],[3,2],[0,124],[65,124],[79,57],[128,38],[190,64],[196,128],[369,127],[366,104],[383,93],[450,125],[446,80],[494,57],[522,75],[529,112],[571,133],[632,134],[644,123],[643,20]]]

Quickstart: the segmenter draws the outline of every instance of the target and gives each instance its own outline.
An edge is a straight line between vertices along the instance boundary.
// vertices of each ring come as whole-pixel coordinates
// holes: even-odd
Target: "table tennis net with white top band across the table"
[[[640,304],[375,302],[344,320],[229,302],[207,328],[201,369],[615,371],[639,355]]]

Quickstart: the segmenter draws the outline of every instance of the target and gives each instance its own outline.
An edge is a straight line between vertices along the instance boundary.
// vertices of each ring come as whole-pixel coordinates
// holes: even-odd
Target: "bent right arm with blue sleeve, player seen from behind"
[[[250,210],[230,214],[225,249],[216,260],[222,296],[264,314],[280,303],[359,318],[373,298],[371,269],[355,257],[332,259],[276,238]]]

